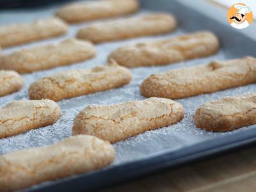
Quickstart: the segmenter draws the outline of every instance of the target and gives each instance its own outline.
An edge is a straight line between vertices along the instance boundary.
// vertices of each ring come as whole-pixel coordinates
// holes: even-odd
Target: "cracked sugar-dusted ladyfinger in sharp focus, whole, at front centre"
[[[184,116],[179,102],[152,97],[113,106],[87,106],[74,120],[72,134],[90,134],[111,143],[172,125]]]

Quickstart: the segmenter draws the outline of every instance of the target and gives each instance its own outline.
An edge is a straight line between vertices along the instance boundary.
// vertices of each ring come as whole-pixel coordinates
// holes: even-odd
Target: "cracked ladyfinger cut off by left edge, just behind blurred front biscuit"
[[[0,109],[0,138],[54,124],[60,116],[52,100],[15,100]]]

